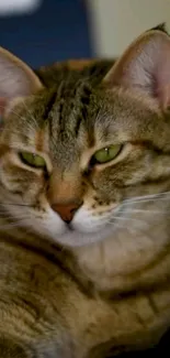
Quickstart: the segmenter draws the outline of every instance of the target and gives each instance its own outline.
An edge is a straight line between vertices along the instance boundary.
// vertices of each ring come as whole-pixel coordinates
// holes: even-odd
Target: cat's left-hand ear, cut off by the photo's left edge
[[[0,115],[19,97],[43,88],[38,77],[21,59],[0,47]]]

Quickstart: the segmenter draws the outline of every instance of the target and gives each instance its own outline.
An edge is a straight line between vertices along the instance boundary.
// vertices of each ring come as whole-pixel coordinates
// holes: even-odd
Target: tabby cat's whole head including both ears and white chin
[[[151,198],[170,188],[170,39],[161,30],[138,37],[95,87],[67,77],[44,88],[1,48],[0,106],[0,210],[15,225],[89,245],[126,225],[133,203],[157,206]]]

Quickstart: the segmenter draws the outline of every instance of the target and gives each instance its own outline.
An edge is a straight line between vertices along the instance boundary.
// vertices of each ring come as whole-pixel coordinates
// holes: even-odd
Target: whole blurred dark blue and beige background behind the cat
[[[33,67],[114,57],[161,22],[170,0],[0,0],[0,45]]]

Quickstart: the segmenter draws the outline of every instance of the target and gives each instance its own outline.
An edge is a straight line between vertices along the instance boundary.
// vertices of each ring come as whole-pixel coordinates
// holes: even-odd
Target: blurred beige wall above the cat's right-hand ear
[[[167,22],[170,0],[87,0],[94,53],[113,57],[143,31]]]

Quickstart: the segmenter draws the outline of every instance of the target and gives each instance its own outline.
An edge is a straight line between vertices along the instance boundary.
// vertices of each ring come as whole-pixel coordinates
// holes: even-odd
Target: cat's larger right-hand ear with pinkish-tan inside
[[[125,51],[104,78],[111,86],[144,90],[166,109],[170,106],[170,37],[145,32]]]

